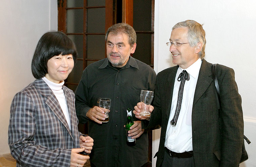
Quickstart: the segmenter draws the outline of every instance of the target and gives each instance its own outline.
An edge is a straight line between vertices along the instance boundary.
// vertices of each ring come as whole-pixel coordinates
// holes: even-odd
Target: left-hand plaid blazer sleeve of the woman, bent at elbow
[[[36,111],[29,95],[15,95],[10,110],[9,146],[12,156],[23,166],[70,166],[71,149],[50,150],[33,141],[36,133]]]

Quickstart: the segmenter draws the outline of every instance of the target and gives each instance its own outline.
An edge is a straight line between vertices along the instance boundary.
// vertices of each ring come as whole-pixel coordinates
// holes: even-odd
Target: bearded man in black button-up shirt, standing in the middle
[[[126,109],[140,102],[141,90],[154,91],[156,73],[130,56],[136,49],[136,33],[130,25],[111,26],[105,40],[107,58],[88,65],[77,87],[77,117],[82,124],[89,121],[89,135],[94,140],[92,167],[141,167],[148,158],[148,136],[133,115],[129,133],[136,138],[136,145],[126,144]],[[98,98],[112,100],[108,123],[98,120],[105,119]]]

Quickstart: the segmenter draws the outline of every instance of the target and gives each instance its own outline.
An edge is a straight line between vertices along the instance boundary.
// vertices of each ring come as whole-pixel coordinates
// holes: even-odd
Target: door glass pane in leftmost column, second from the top
[[[83,33],[83,9],[67,10],[67,33]]]

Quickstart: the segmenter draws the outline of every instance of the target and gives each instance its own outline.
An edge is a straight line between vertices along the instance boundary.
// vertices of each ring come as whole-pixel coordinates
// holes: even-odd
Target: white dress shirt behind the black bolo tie
[[[194,94],[196,90],[197,79],[198,79],[201,63],[202,63],[202,60],[201,58],[199,58],[187,69],[182,69],[179,67],[175,76],[171,112],[170,112],[167,130],[166,130],[165,147],[167,147],[169,150],[176,153],[183,153],[185,151],[193,150],[191,116],[192,116]],[[183,70],[186,70],[187,73],[189,73],[190,79],[185,81],[182,103],[181,103],[177,124],[176,126],[172,126],[170,122],[173,119],[173,116],[175,114],[178,91],[180,86],[180,81],[178,81],[177,79],[179,74]]]

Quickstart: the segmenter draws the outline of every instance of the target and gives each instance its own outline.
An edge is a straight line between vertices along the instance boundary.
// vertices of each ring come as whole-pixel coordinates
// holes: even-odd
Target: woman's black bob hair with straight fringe
[[[74,42],[61,31],[46,32],[38,41],[32,59],[32,74],[36,79],[48,73],[47,62],[57,55],[72,54],[74,62],[77,59],[77,49]]]

